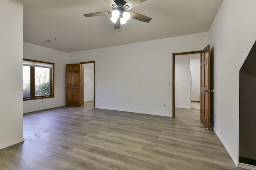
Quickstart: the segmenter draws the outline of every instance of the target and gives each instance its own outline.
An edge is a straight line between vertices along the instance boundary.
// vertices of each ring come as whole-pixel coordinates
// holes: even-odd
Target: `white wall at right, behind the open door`
[[[236,164],[239,70],[256,40],[255,7],[255,0],[224,0],[209,31],[214,46],[214,131]]]

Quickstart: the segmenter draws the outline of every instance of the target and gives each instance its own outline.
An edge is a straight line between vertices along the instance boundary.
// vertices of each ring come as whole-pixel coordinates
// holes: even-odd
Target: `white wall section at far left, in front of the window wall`
[[[23,4],[0,1],[0,149],[24,141],[22,115]]]

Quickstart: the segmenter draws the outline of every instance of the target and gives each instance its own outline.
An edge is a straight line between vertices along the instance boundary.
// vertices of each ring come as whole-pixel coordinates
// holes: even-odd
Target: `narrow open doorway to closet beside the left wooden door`
[[[95,107],[95,61],[81,64],[84,66],[84,106]]]

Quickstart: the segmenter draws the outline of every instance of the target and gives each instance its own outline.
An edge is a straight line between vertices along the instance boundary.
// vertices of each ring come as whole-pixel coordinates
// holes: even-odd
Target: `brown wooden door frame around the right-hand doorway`
[[[179,55],[187,55],[187,54],[200,54],[200,51],[188,51],[182,53],[172,53],[172,117],[175,117],[175,57]]]

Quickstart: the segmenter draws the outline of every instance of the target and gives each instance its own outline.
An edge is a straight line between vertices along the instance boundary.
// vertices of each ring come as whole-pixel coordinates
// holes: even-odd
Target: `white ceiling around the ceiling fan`
[[[132,8],[152,18],[114,29],[104,0],[17,0],[24,4],[24,41],[67,53],[207,32],[222,0],[147,0]],[[128,1],[128,0],[126,0]],[[56,38],[56,40],[54,40]],[[50,40],[50,43],[45,41]]]

